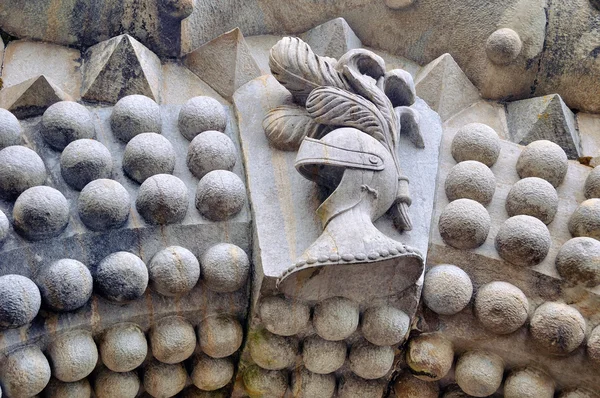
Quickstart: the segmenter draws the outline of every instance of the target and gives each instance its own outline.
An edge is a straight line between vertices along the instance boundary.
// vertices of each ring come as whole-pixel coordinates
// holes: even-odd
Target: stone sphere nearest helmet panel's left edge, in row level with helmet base
[[[241,289],[250,273],[250,260],[240,247],[219,243],[204,252],[200,260],[202,278],[215,292],[231,293]]]

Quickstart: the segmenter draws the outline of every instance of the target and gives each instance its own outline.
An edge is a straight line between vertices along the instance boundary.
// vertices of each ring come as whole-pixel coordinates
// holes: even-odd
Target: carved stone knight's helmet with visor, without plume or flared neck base
[[[356,206],[376,220],[396,199],[398,172],[390,152],[355,128],[338,128],[320,140],[305,138],[296,156],[296,169],[333,190],[317,210],[324,227]]]

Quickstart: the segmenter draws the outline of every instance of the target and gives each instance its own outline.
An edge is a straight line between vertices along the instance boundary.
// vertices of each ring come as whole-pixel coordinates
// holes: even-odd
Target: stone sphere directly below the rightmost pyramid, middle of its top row
[[[517,160],[517,173],[521,178],[543,178],[556,188],[565,179],[568,166],[567,154],[560,146],[540,140],[523,149]]]

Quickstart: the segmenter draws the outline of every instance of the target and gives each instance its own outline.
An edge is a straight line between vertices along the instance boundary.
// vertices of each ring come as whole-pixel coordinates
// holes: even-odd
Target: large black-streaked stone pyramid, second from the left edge
[[[115,103],[131,94],[159,101],[160,59],[129,35],[113,37],[85,54],[82,98]]]

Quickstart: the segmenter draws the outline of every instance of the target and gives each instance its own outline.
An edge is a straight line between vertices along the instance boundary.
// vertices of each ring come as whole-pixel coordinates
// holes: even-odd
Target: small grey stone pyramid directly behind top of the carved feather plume
[[[344,18],[336,18],[316,26],[302,35],[312,50],[325,57],[340,58],[362,43]]]

